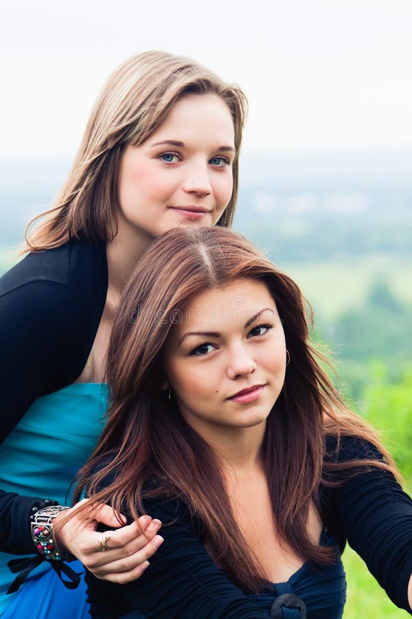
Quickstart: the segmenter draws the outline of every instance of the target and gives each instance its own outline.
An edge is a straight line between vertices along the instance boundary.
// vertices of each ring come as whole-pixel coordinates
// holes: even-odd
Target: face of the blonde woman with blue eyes
[[[119,230],[150,238],[181,224],[213,226],[233,190],[231,113],[216,94],[181,97],[152,135],[127,146],[119,170]]]

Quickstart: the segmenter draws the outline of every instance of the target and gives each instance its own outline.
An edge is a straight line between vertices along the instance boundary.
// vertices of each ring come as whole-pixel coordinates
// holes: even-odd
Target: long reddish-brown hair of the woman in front
[[[307,528],[310,502],[318,501],[325,435],[363,437],[387,454],[371,429],[345,409],[319,367],[297,285],[246,239],[224,228],[171,230],[137,265],[124,290],[108,348],[108,421],[81,471],[76,499],[87,488],[89,495],[96,493],[94,503],[111,501],[137,518],[144,512],[144,486],[154,479],[157,494],[183,499],[200,519],[211,555],[233,582],[260,591],[266,579],[236,525],[218,459],[185,423],[173,398],[167,400],[161,391],[163,351],[174,321],[195,295],[239,278],[267,285],[290,352],[284,386],[268,416],[262,446],[275,525],[302,558],[332,561],[334,551],[314,543]],[[389,468],[374,461],[363,464]],[[108,476],[115,481],[98,491]]]

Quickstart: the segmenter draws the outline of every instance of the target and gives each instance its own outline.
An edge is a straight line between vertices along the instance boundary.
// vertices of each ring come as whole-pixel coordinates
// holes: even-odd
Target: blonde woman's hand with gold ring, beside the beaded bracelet
[[[54,519],[58,523],[62,517],[73,514],[69,521],[56,531],[54,539],[62,552],[69,552],[82,562],[94,576],[112,583],[124,585],[136,580],[148,567],[148,558],[155,554],[163,542],[157,535],[161,521],[152,520],[150,516],[141,516],[130,525],[119,523],[115,511],[108,505],[101,505],[94,514],[91,523],[85,524],[76,516],[76,510],[88,499],[83,499],[70,510],[60,512]],[[120,520],[126,518],[120,514]],[[116,528],[104,533],[96,531],[98,523]],[[100,550],[99,541],[106,539],[107,550]]]

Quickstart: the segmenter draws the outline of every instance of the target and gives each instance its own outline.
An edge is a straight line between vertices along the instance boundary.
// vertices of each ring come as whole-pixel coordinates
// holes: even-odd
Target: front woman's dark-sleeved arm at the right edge
[[[379,459],[370,443],[343,437],[339,461]],[[363,468],[330,492],[326,520],[330,528],[363,558],[387,595],[411,613],[408,585],[412,574],[412,500],[395,477],[379,468]],[[412,613],[411,613],[412,614]]]

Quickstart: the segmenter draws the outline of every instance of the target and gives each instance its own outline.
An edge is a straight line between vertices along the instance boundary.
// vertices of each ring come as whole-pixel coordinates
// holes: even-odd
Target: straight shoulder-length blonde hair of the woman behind
[[[247,114],[246,96],[240,87],[225,83],[190,58],[145,52],[129,58],[108,78],[53,208],[34,217],[27,226],[27,250],[58,247],[72,237],[113,239],[117,233],[117,177],[125,147],[144,142],[176,100],[188,93],[218,95],[233,118],[233,193],[218,221],[220,226],[230,226],[238,194],[238,153]],[[41,223],[30,232],[39,218]]]

